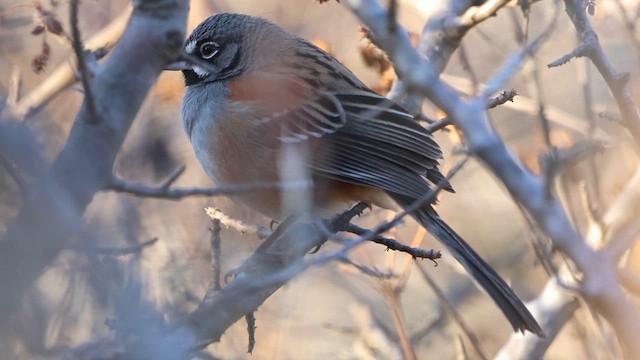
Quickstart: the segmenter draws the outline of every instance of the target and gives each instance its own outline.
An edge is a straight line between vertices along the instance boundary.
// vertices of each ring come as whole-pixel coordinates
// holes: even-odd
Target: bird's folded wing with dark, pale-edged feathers
[[[278,129],[274,136],[281,143],[313,149],[307,164],[317,176],[411,197],[429,191],[426,180],[444,180],[437,168],[442,152],[432,135],[402,107],[371,91],[326,92],[264,121],[265,131]]]

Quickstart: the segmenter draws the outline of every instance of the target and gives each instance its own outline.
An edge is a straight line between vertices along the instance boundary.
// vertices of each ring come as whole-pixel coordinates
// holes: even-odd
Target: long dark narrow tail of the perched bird
[[[400,205],[410,204],[408,199],[392,195]],[[413,217],[425,227],[433,236],[438,238],[451,251],[451,254],[464,266],[475,281],[491,296],[502,313],[507,317],[516,331],[529,330],[544,337],[544,332],[538,322],[524,306],[509,285],[467,244],[460,235],[438,216],[438,213],[426,205],[414,212]]]

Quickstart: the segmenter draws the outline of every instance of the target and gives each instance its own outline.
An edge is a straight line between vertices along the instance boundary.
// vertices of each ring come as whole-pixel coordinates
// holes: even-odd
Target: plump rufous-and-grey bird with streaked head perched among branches
[[[305,206],[286,187],[235,195],[259,213],[276,220],[288,212],[319,217],[359,201],[398,210],[438,184],[453,191],[439,170],[440,146],[413,115],[280,26],[215,14],[192,31],[183,54],[191,61],[173,67],[186,86],[183,126],[207,175],[218,184],[313,184]],[[543,337],[514,291],[433,205],[411,216],[486,291],[514,331]]]

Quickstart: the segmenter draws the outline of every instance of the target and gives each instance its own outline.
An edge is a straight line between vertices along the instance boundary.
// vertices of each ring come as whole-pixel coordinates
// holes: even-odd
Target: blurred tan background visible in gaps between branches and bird
[[[399,1],[399,21],[409,31],[419,33],[429,15],[429,2]],[[42,1],[68,32],[66,2]],[[636,1],[623,4],[635,21]],[[90,39],[127,11],[128,2],[91,0],[81,3],[80,29]],[[0,1],[0,96],[6,98],[20,79],[19,94],[29,94],[55,69],[72,57],[66,41],[45,32],[33,34],[35,11],[29,2]],[[278,0],[193,0],[189,27],[215,12],[241,12],[268,18],[288,31],[314,41],[346,64],[366,84],[381,92],[388,90],[388,73],[363,61],[360,25],[342,5],[330,1]],[[530,33],[540,33],[549,24],[551,2],[533,5]],[[621,20],[617,3],[598,1],[591,18],[605,51],[621,71],[630,72],[630,91],[638,90],[638,53]],[[473,79],[482,83],[491,78],[509,54],[521,47],[524,17],[517,6],[502,9],[495,18],[472,29],[462,43],[467,61],[454,55],[443,79],[460,91],[471,93]],[[35,31],[37,32],[37,31]],[[634,36],[637,34],[634,33]],[[50,48],[44,65],[43,44]],[[566,16],[533,60],[509,83],[516,89],[514,102],[490,110],[489,115],[510,149],[532,170],[539,171],[539,155],[545,151],[538,120],[538,105],[544,104],[552,124],[551,139],[558,147],[569,147],[590,136],[585,114],[584,89],[588,90],[595,114],[618,110],[600,75],[583,59],[548,69],[546,64],[573,50],[575,29]],[[42,61],[41,61],[42,63]],[[468,68],[470,67],[470,69]],[[39,70],[39,71],[34,71]],[[540,88],[535,86],[539,77]],[[392,77],[391,77],[392,78]],[[79,85],[64,90],[43,109],[25,118],[48,160],[62,148],[75,114],[82,102]],[[176,186],[206,187],[210,180],[197,163],[182,130],[180,102],[184,86],[180,74],[166,73],[158,80],[134,122],[123,145],[115,172],[122,178],[158,183],[181,165],[185,173]],[[441,117],[429,104],[425,114]],[[635,172],[637,156],[628,146],[629,137],[610,118],[598,118],[598,139],[606,141],[605,151],[595,156],[598,196],[603,204],[612,201]],[[453,129],[436,135],[443,147],[442,168],[449,169],[460,156],[460,138]],[[569,209],[580,208],[576,193],[586,179],[584,166],[570,167],[560,178],[559,191]],[[526,218],[509,194],[482,164],[470,161],[452,180],[455,194],[442,194],[437,207],[455,228],[500,273],[523,300],[536,297],[548,276],[533,251],[532,232]],[[0,166],[0,234],[20,208],[20,190],[7,169]],[[577,205],[576,205],[577,204]],[[184,198],[178,201],[141,199],[115,192],[100,193],[85,218],[86,241],[117,248],[157,238],[152,245],[130,255],[91,255],[82,249],[63,251],[38,280],[15,321],[0,329],[1,358],[49,358],[61,350],[77,347],[112,331],[111,320],[127,313],[157,310],[165,317],[177,317],[192,310],[210,283],[210,219],[204,208],[212,206],[249,223],[268,226],[260,217],[234,203],[232,198]],[[586,226],[583,211],[571,212],[579,227]],[[358,220],[372,226],[389,217],[373,209]],[[407,219],[388,234],[404,243],[441,249],[431,236]],[[540,240],[540,239],[538,239]],[[255,235],[222,232],[222,270],[238,267],[259,244]],[[545,239],[541,239],[544,244]],[[328,251],[337,245],[325,245]],[[547,252],[550,246],[543,245]],[[331,263],[314,267],[278,290],[256,313],[256,347],[246,353],[246,324],[230,328],[219,343],[209,347],[222,359],[393,359],[402,358],[400,337],[407,336],[419,359],[455,359],[461,346],[459,326],[444,310],[424,276],[421,266],[444,291],[468,328],[477,336],[485,354],[491,357],[507,341],[511,328],[490,298],[481,293],[459,266],[444,254],[435,267],[429,261],[414,263],[406,254],[385,251],[375,244],[352,254],[360,264],[399,275],[379,279],[352,266]],[[314,255],[309,255],[314,256]],[[630,254],[629,267],[637,270]],[[558,261],[558,259],[556,259]],[[560,260],[562,261],[562,260]],[[634,268],[634,266],[636,268]],[[109,276],[105,276],[109,274]],[[1,290],[0,290],[1,291]],[[132,301],[134,299],[135,301]],[[131,306],[137,303],[139,307]],[[123,308],[124,307],[124,308]],[[152,309],[152,310],[151,310]],[[399,315],[398,315],[399,314]],[[398,324],[397,320],[402,323]],[[394,322],[394,320],[396,320]],[[401,335],[400,330],[406,332]],[[462,341],[462,342],[461,342]],[[615,348],[615,346],[613,346]],[[610,331],[588,307],[580,308],[564,326],[546,353],[546,359],[615,358]],[[474,358],[471,356],[470,358]]]

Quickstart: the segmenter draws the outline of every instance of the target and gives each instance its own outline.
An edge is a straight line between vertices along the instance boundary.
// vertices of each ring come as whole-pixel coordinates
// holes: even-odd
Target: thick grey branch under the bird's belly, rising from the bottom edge
[[[220,291],[208,291],[195,311],[172,324],[151,324],[152,329],[146,331],[148,336],[129,344],[121,344],[117,349],[118,356],[143,354],[145,345],[149,343],[157,344],[153,349],[154,354],[163,354],[166,351],[171,355],[179,354],[179,357],[195,356],[208,344],[218,341],[229,326],[246,314],[255,311],[291,278],[310,267],[344,259],[355,247],[388,231],[412,211],[425,203],[432,202],[467,160],[468,157],[465,157],[459,161],[437,186],[411,203],[393,219],[378,224],[356,239],[339,238],[333,233],[348,224],[353,217],[361,214],[368,207],[366,203],[355,205],[328,224],[325,222],[317,222],[316,226],[301,223],[286,224],[286,230],[282,231],[282,236],[277,237],[268,247],[258,247],[244,261],[241,271],[228,286]],[[279,229],[274,231],[276,232],[279,232]],[[307,261],[303,259],[311,249],[321,245],[329,237],[339,238],[343,246],[326,255],[314,256]]]

